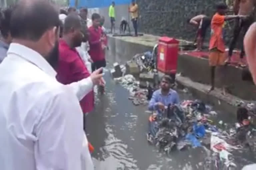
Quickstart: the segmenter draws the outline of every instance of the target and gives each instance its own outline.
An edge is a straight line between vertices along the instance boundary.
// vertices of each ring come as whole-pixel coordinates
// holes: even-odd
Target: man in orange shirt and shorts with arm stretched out
[[[238,15],[228,15],[225,16],[227,5],[224,3],[219,3],[216,6],[217,12],[212,18],[211,22],[211,39],[209,45],[209,65],[211,67],[211,88],[209,90],[214,90],[214,79],[215,79],[215,68],[216,66],[221,66],[222,80],[224,80],[225,72],[223,66],[225,65],[225,43],[222,37],[223,24],[226,20],[232,20],[235,18],[240,18],[242,16]],[[223,95],[225,95],[225,88],[222,88]]]

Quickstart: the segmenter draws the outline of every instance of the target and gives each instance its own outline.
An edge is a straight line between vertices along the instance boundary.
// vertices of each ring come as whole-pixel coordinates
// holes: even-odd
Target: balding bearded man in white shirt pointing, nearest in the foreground
[[[101,70],[57,82],[58,24],[50,1],[21,0],[12,13],[13,42],[0,65],[1,170],[93,169],[77,99],[100,83]]]

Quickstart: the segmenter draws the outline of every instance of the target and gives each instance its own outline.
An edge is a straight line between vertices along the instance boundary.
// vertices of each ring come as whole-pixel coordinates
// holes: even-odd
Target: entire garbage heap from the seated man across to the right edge
[[[214,166],[218,169],[236,167],[232,151],[248,144],[256,146],[256,129],[248,124],[248,118],[235,128],[220,129],[210,120],[216,114],[199,100],[169,105],[162,114],[150,116],[147,139],[167,155],[174,150],[204,146],[215,155]]]

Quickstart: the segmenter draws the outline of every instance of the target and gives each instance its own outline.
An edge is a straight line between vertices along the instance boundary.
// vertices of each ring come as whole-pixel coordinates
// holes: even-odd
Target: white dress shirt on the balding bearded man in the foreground
[[[92,81],[62,85],[55,76],[39,53],[11,43],[0,64],[1,170],[93,169],[77,100]]]

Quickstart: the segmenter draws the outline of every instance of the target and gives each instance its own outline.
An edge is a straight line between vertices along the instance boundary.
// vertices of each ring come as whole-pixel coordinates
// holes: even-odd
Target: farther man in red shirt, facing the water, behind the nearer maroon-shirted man
[[[93,61],[92,71],[101,67],[106,67],[106,59],[104,55],[104,36],[102,29],[100,28],[101,17],[99,14],[92,14],[92,26],[89,27],[89,54]]]

